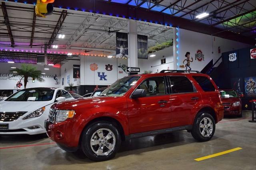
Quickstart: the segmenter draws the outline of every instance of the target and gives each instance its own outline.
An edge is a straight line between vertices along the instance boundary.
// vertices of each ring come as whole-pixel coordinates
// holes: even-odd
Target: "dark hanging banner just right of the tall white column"
[[[148,36],[137,35],[138,58],[148,59]]]

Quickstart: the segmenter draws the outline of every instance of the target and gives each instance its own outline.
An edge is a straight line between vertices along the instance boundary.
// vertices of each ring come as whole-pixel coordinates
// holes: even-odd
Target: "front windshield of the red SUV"
[[[105,96],[123,96],[140,79],[140,77],[124,77],[110,85],[100,95]]]

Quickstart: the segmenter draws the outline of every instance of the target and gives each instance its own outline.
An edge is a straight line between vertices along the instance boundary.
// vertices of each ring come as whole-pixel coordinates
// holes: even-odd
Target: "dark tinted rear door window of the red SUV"
[[[193,93],[194,86],[186,76],[170,76],[172,94]]]

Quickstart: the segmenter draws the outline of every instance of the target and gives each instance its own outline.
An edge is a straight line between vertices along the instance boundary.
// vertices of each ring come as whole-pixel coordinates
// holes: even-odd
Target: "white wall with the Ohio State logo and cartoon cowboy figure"
[[[186,59],[186,52],[190,52],[190,58],[193,57],[193,62],[190,63],[191,69],[201,71],[212,59],[213,62],[215,62],[221,56],[221,53],[251,46],[245,43],[215,36],[212,37],[198,32],[192,32],[184,29],[176,29],[176,31],[177,30],[178,36],[175,34],[176,37],[174,38],[174,40],[176,40],[175,43],[178,44],[178,59],[176,54],[176,62],[178,66],[175,65],[176,69],[185,69],[180,68],[179,66],[185,66],[186,61],[184,64],[182,62]],[[179,39],[178,42],[177,38]],[[218,47],[220,47],[220,53],[218,53]],[[177,51],[177,47],[175,48]],[[195,60],[195,54],[198,49],[200,49],[204,54],[204,61],[200,62]]]

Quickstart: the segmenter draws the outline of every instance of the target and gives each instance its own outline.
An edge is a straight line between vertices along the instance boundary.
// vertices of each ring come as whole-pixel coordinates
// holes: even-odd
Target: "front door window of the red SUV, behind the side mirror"
[[[164,77],[152,77],[146,79],[137,89],[144,89],[147,92],[147,96],[164,95],[166,94]]]

